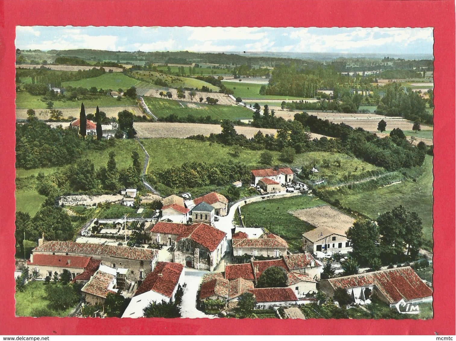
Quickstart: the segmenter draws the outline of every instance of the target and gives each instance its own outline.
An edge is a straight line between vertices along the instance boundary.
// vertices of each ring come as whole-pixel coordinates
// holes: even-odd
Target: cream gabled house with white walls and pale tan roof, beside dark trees
[[[344,228],[345,229],[345,228]],[[349,253],[352,247],[347,239],[344,229],[330,227],[317,227],[302,234],[302,249],[305,252],[316,254],[317,251],[325,253]]]

